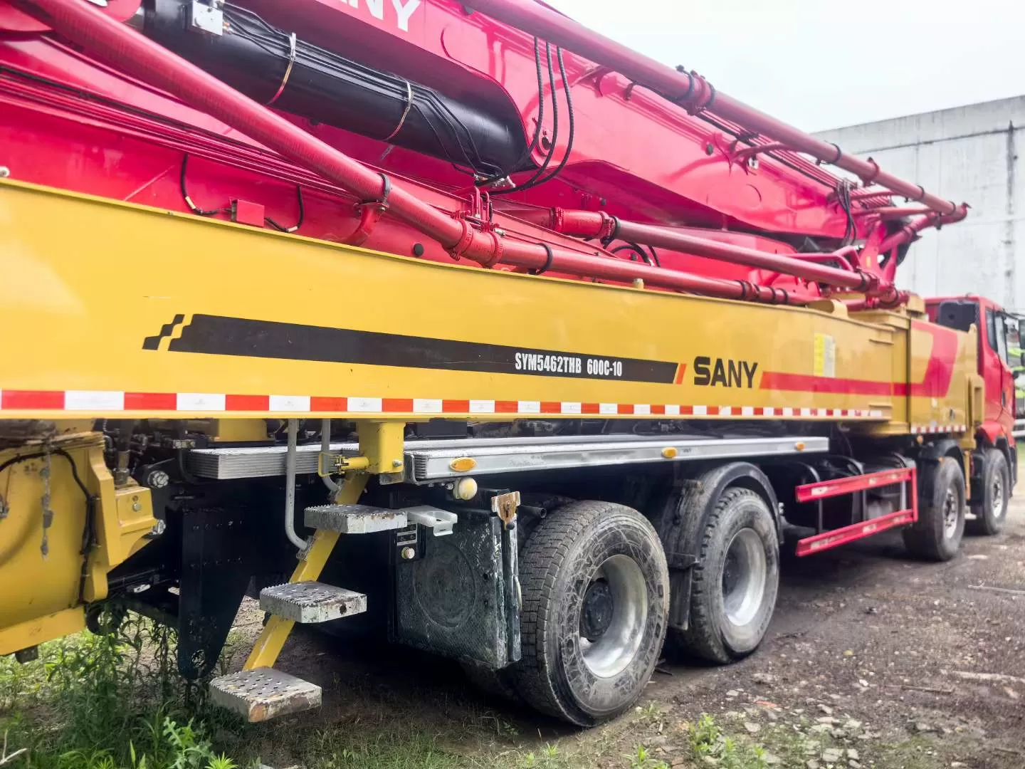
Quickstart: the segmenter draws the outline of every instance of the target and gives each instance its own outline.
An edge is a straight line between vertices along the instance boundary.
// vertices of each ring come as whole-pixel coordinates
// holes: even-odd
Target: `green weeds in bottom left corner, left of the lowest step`
[[[138,617],[106,630],[0,660],[0,729],[24,766],[234,769],[208,737],[205,687],[177,676],[170,631]]]

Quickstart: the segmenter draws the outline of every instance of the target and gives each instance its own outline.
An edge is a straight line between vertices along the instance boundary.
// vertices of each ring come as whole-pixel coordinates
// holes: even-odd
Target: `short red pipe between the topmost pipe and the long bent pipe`
[[[706,256],[721,261],[773,270],[805,280],[814,280],[837,288],[849,288],[856,291],[872,292],[889,288],[879,285],[877,276],[850,268],[848,255],[857,250],[853,246],[843,248],[835,253],[808,254],[814,260],[835,258],[842,265],[848,266],[845,269],[816,265],[812,260],[806,261],[795,256],[768,253],[756,248],[745,248],[732,243],[699,238],[669,227],[624,221],[610,216],[604,211],[567,211],[555,208],[520,210],[517,215],[533,224],[555,230],[557,233],[579,238],[613,237],[628,243],[659,246],[694,256]]]

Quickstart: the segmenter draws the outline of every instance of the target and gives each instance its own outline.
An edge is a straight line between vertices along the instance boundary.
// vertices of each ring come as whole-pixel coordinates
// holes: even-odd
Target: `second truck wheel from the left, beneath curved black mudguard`
[[[750,654],[769,630],[779,590],[779,540],[765,499],[750,489],[727,489],[693,569],[683,646],[722,664]]]

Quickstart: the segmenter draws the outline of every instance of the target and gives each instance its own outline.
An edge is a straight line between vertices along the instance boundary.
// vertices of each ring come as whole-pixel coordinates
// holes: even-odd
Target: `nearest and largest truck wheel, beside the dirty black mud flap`
[[[580,726],[633,704],[658,661],[668,613],[669,574],[651,524],[622,504],[571,502],[530,535],[520,580],[520,695]]]

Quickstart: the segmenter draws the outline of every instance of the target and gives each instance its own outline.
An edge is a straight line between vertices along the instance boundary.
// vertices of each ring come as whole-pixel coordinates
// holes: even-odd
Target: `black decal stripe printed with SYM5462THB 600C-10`
[[[150,337],[153,338],[153,337]],[[144,348],[150,341],[144,342]],[[303,326],[294,323],[228,318],[216,315],[194,315],[192,323],[181,330],[181,335],[171,339],[169,349],[175,353],[204,353],[207,355],[233,355],[248,358],[276,358],[283,360],[322,361],[325,363],[358,363],[371,366],[402,366],[406,368],[434,368],[455,371],[484,371],[501,374],[531,376],[563,376],[582,379],[611,379],[619,381],[651,381],[672,383],[675,363],[649,361],[638,358],[609,358],[565,351],[531,350],[504,345],[487,345],[455,339],[434,339],[424,336],[356,331],[348,328]],[[528,371],[516,368],[516,355],[567,356],[580,359],[576,366],[537,366]],[[602,362],[602,370],[615,364],[622,367],[622,375],[587,373],[587,359]],[[543,363],[543,359],[541,361]],[[596,371],[598,366],[594,367]]]

